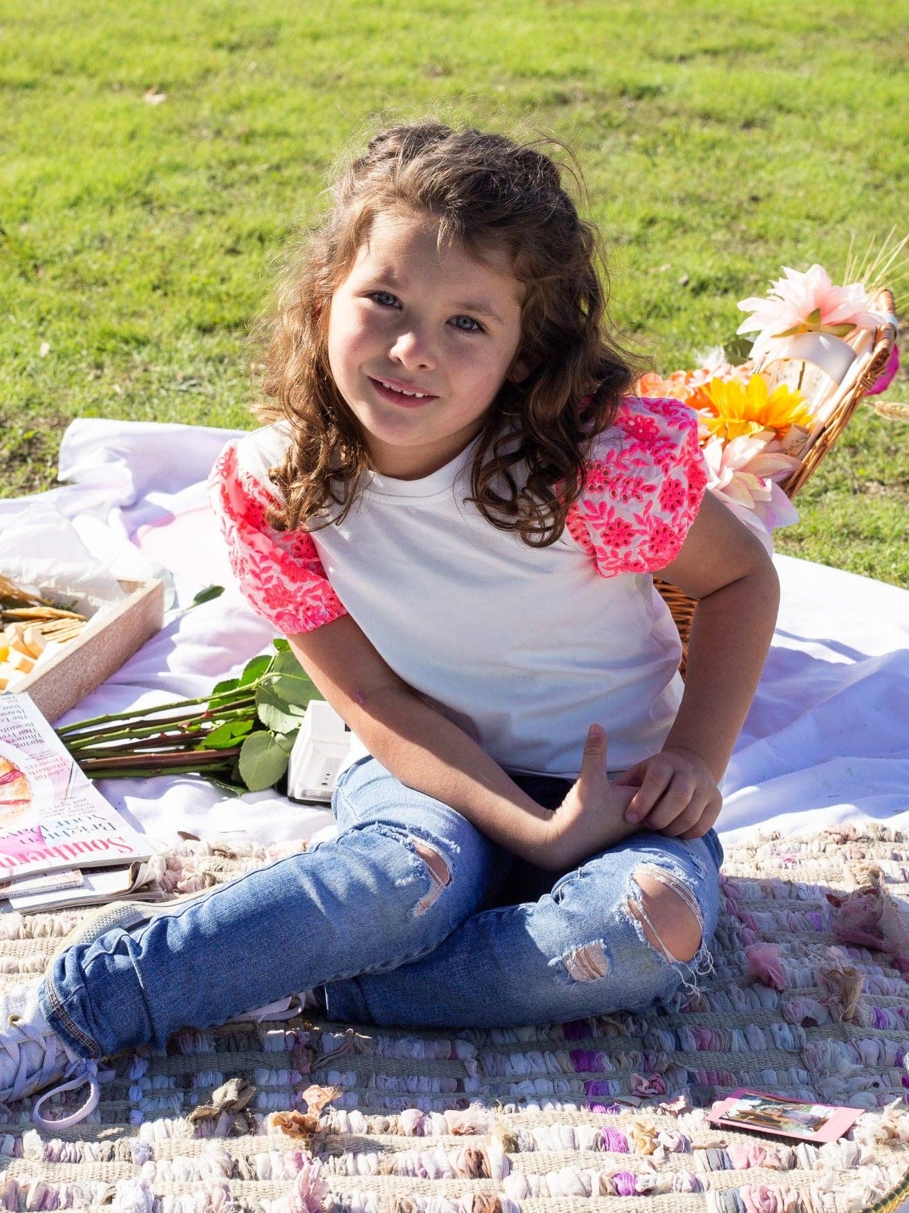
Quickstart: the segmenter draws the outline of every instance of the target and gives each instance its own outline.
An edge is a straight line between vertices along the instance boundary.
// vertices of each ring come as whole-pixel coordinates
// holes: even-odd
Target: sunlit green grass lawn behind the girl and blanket
[[[904,233],[908,28],[905,0],[1,0],[0,492],[51,486],[76,416],[251,425],[275,257],[377,120],[569,143],[614,319],[692,365],[782,266],[842,280],[853,232]],[[909,587],[908,438],[863,405],[778,549]]]

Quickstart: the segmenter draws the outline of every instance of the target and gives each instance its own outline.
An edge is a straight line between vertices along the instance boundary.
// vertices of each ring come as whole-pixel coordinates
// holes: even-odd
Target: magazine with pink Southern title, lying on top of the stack
[[[0,694],[0,896],[10,896],[23,876],[129,869],[153,853],[83,774],[28,695]]]

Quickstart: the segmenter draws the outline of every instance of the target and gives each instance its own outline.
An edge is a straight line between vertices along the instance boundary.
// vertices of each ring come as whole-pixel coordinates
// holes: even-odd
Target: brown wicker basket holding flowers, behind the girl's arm
[[[877,294],[874,309],[893,314],[893,295],[891,291],[882,290]],[[874,332],[869,329],[857,330],[852,337],[847,338],[848,344],[856,351],[856,360],[839,385],[834,385],[828,375],[809,363],[778,361],[763,368],[765,374],[767,374],[774,386],[776,383],[788,383],[790,387],[795,387],[799,372],[805,366],[802,392],[812,411],[823,418],[820,425],[816,427],[816,432],[809,440],[811,445],[802,455],[801,463],[782,484],[783,491],[790,500],[802,488],[846,428],[862,397],[867,395],[869,388],[874,386],[874,381],[887,364],[896,336],[897,331],[892,324],[884,324]],[[684,676],[688,662],[688,637],[691,636],[692,620],[694,617],[695,600],[688,598],[681,590],[667,581],[654,579],[654,585],[672,611],[672,619],[678,628],[678,634],[682,639],[682,662],[678,668],[682,676]]]

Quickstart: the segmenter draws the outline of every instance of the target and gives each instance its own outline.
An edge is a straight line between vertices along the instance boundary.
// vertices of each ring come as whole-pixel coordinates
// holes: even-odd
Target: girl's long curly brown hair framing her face
[[[309,522],[323,513],[324,525],[341,523],[362,474],[373,469],[360,423],[329,369],[326,304],[375,216],[403,210],[431,216],[439,244],[458,243],[477,260],[504,249],[524,286],[512,368],[523,360],[533,370],[513,382],[510,368],[499,388],[477,439],[465,501],[493,526],[518,531],[529,547],[555,543],[583,491],[592,438],[612,425],[623,395],[647,369],[607,334],[602,238],[579,217],[563,171],[530,142],[434,120],[391,126],[369,141],[365,154],[335,170],[333,204],[291,249],[272,306],[252,331],[265,347],[257,364],[265,399],[254,411],[263,423],[286,422],[291,439],[271,471],[284,499],[269,511],[273,526],[306,523],[317,530]],[[583,184],[580,170],[576,180]],[[528,474],[519,484],[513,469],[522,461]],[[507,492],[496,484],[507,484]],[[329,501],[342,507],[340,514],[330,513]]]

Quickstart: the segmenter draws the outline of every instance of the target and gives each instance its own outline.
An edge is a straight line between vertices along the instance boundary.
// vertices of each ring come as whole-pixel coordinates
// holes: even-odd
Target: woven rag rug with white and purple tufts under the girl
[[[159,885],[189,892],[294,849],[181,841],[159,856]],[[112,1059],[74,1128],[38,1132],[28,1100],[0,1106],[0,1207],[896,1209],[909,1192],[909,835],[763,835],[727,848],[721,878],[715,972],[697,995],[510,1030],[184,1030]],[[0,916],[4,984],[41,972],[83,912]],[[865,1111],[819,1146],[712,1127],[711,1103],[737,1086]]]

